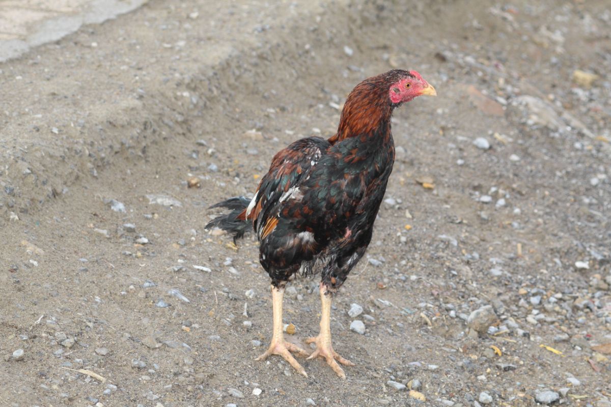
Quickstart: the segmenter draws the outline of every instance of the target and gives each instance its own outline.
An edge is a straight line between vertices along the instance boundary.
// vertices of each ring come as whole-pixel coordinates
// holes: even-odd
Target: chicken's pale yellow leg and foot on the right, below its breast
[[[353,362],[342,358],[331,345],[331,294],[327,295],[327,288],[323,283],[320,283],[320,301],[321,301],[321,318],[320,318],[320,333],[316,337],[310,337],[305,340],[307,344],[316,343],[316,350],[307,359],[322,357],[327,359],[327,364],[331,369],[342,379],[346,378],[342,367],[337,362],[345,366],[355,366]],[[335,361],[337,359],[337,362]]]

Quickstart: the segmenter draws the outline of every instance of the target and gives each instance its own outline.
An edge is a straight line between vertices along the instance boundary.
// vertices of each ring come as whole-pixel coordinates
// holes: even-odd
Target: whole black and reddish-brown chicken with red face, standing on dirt
[[[260,241],[259,260],[271,277],[273,336],[257,360],[280,355],[307,376],[290,351],[309,353],[284,340],[282,296],[293,274],[320,274],[320,334],[306,341],[316,344],[308,359],[325,358],[342,378],[338,362],[354,366],[331,344],[331,295],[371,241],[395,159],[390,116],[420,95],[436,91],[416,71],[392,70],[365,79],[348,95],[333,137],[297,140],[274,156],[252,200],[240,196],[213,206],[232,211],[207,228],[225,229],[235,241],[252,225]]]

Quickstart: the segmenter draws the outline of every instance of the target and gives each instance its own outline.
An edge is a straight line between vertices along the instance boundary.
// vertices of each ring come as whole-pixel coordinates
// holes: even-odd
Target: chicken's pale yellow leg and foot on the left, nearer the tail
[[[291,344],[284,340],[284,331],[282,331],[282,297],[284,297],[284,287],[276,288],[271,286],[271,301],[274,309],[274,331],[271,337],[271,344],[269,344],[268,350],[259,356],[255,361],[264,361],[269,355],[280,355],[287,361],[291,366],[295,368],[299,373],[307,377],[305,369],[299,364],[298,361],[293,358],[290,351],[297,353],[299,356],[308,356],[309,353],[298,347],[297,345]]]

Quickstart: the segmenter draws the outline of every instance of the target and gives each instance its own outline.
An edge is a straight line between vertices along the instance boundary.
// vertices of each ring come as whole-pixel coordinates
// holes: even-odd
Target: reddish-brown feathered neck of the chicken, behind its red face
[[[361,82],[348,95],[337,133],[329,143],[335,144],[349,137],[373,137],[380,131],[390,134],[392,110],[385,87],[377,81]]]

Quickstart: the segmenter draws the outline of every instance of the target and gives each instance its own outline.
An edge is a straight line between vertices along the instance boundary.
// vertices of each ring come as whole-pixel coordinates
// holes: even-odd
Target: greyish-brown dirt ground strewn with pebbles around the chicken
[[[611,406],[611,11],[532,3],[152,0],[0,65],[0,405]],[[438,96],[395,112],[334,298],[357,366],[255,362],[269,279],[207,207],[391,68]],[[287,290],[291,341],[317,286]]]

